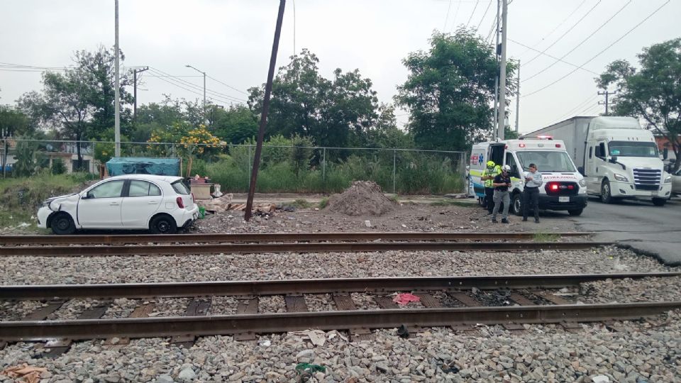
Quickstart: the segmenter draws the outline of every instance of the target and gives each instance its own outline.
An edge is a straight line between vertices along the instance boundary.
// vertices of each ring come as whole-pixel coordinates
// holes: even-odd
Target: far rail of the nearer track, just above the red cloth
[[[560,289],[604,279],[677,277],[681,272],[619,274],[540,274],[471,277],[381,277],[287,279],[271,281],[165,282],[129,284],[0,285],[0,300],[145,299],[155,297],[344,294],[472,289]]]

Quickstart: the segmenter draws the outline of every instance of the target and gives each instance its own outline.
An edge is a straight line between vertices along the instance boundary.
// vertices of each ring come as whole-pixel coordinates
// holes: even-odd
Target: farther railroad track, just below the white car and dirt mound
[[[558,233],[577,237],[589,233]],[[1,256],[209,255],[263,252],[578,250],[610,243],[532,242],[534,233],[287,233],[0,237]],[[492,242],[476,242],[489,240]],[[68,241],[72,242],[68,242]],[[519,241],[521,240],[521,241]],[[522,241],[525,240],[525,241]],[[345,242],[338,242],[345,241]],[[63,245],[71,243],[71,245]],[[11,244],[11,245],[9,245]]]

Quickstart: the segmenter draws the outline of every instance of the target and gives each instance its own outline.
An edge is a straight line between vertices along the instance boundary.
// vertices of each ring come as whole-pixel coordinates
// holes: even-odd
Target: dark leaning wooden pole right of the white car
[[[277,51],[279,50],[279,36],[282,34],[282,21],[284,21],[284,6],[286,0],[279,0],[279,15],[277,16],[277,28],[275,28],[275,41],[272,43],[272,55],[270,56],[270,72],[267,73],[265,85],[265,97],[262,100],[262,116],[260,116],[260,129],[258,129],[258,143],[255,145],[255,157],[253,157],[253,170],[250,172],[250,186],[248,187],[248,199],[243,219],[249,221],[253,215],[253,195],[255,194],[255,182],[258,181],[258,167],[260,166],[260,152],[262,152],[262,140],[265,139],[265,126],[267,126],[267,113],[270,111],[270,94],[272,94],[272,81],[277,67]]]

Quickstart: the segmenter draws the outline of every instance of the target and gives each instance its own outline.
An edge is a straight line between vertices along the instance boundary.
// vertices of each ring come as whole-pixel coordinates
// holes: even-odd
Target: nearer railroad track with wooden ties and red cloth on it
[[[124,344],[130,338],[170,336],[173,343],[187,345],[200,335],[253,339],[258,333],[309,328],[349,331],[353,336],[362,336],[374,328],[400,328],[404,333],[432,326],[465,330],[477,323],[501,324],[511,330],[522,328],[523,323],[560,323],[572,329],[578,327],[578,322],[658,315],[681,309],[681,301],[573,304],[555,289],[608,278],[679,275],[674,272],[1,286],[0,301],[21,304],[33,300],[43,304],[22,320],[0,321],[0,341],[51,340],[48,347],[63,351],[72,340],[109,338],[109,343]],[[392,299],[392,294],[399,292],[418,296],[420,307],[399,309]],[[309,294],[327,294],[330,301],[326,303],[335,310],[310,311],[306,300]],[[210,315],[216,296],[232,297],[236,307],[231,309],[235,314]],[[259,313],[259,299],[265,296],[283,296],[287,312]],[[187,300],[187,297],[184,316],[150,317],[154,311],[151,298]],[[111,301],[120,298],[140,301],[128,318],[101,319]],[[367,306],[367,298],[375,306],[373,309],[361,309],[360,305]],[[45,321],[70,299],[96,301],[78,319]]]

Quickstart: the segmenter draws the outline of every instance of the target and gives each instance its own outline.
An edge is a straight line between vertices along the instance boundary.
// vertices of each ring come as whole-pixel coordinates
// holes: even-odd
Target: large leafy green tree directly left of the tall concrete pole
[[[434,150],[467,150],[492,129],[494,48],[472,30],[433,33],[428,52],[403,60],[409,77],[398,87],[397,104],[411,112],[407,128],[416,145]],[[514,93],[515,65],[507,65],[506,92]]]

